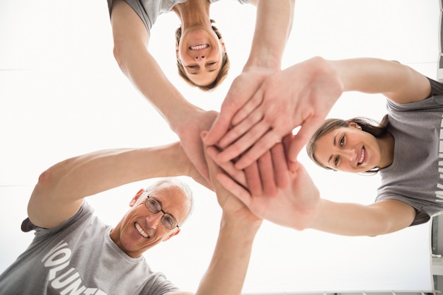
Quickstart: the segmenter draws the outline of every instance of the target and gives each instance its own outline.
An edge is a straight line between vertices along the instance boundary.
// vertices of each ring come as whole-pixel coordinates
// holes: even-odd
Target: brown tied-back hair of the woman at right
[[[314,153],[316,151],[316,142],[317,140],[322,137],[324,134],[332,131],[333,129],[336,129],[338,127],[349,127],[350,123],[354,122],[359,127],[362,127],[362,130],[365,132],[368,132],[372,134],[376,138],[384,137],[386,133],[388,132],[388,125],[389,125],[389,118],[388,115],[385,115],[381,122],[376,122],[375,120],[364,118],[364,117],[355,117],[350,120],[342,120],[342,119],[327,119],[325,122],[323,122],[323,125],[321,125],[317,131],[312,135],[311,139],[306,144],[306,153],[308,154],[309,158],[316,163],[318,166],[325,168],[325,169],[331,169],[329,167],[323,166],[317,158],[314,156]],[[370,170],[367,170],[365,173],[367,174],[375,174],[379,171],[378,167],[374,167]]]

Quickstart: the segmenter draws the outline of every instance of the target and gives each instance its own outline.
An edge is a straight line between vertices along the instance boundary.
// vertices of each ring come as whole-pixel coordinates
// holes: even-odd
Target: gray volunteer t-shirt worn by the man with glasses
[[[103,224],[86,203],[71,219],[54,229],[33,226],[27,250],[0,275],[1,295],[45,294],[149,294],[178,289],[159,272],[152,272],[144,257],[130,258],[110,239]]]

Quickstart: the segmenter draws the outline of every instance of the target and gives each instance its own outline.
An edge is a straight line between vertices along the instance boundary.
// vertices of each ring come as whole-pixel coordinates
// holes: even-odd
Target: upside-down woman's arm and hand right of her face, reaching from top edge
[[[220,115],[205,138],[205,144],[226,147],[230,141],[219,140],[231,125],[235,125],[232,118],[236,112],[254,97],[254,93],[268,76],[280,71],[282,54],[292,28],[293,14],[294,0],[258,1],[255,32],[248,61],[241,75],[234,79],[229,88]]]

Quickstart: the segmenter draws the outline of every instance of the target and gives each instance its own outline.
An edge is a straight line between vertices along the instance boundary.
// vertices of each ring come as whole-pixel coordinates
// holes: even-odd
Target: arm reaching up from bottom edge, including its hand
[[[209,158],[207,163],[223,213],[214,255],[195,294],[240,295],[248,270],[253,240],[262,220],[217,182],[215,177],[220,168]]]

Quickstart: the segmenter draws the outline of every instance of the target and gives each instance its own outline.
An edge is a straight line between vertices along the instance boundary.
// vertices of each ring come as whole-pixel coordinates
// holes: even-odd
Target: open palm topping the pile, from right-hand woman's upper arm
[[[289,162],[295,163],[299,151],[323,123],[341,93],[343,85],[338,74],[323,59],[315,57],[295,64],[269,76],[241,108],[238,104],[222,108],[209,131],[213,134],[209,133],[205,143],[218,141],[224,149],[219,161],[241,156],[236,168],[243,169],[300,126],[287,154]],[[234,127],[228,131],[229,120]]]

